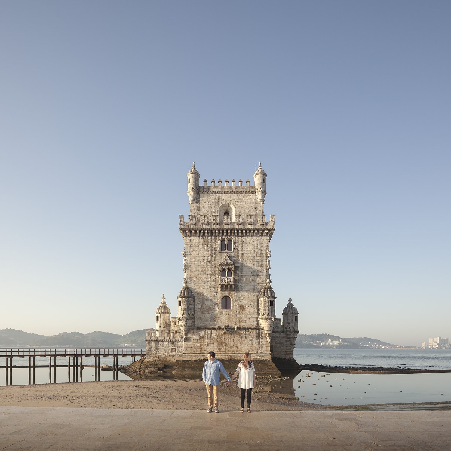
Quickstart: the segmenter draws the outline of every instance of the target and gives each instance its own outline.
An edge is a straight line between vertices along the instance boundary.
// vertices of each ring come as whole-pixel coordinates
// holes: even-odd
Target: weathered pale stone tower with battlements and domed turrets
[[[188,221],[179,215],[184,250],[177,316],[169,318],[163,298],[156,332],[147,331],[147,361],[174,365],[204,360],[214,350],[223,361],[250,352],[269,366],[280,368],[285,360],[286,370],[287,359],[295,365],[298,312],[290,299],[283,324],[276,318],[269,250],[275,215],[266,221],[267,175],[261,164],[253,177],[254,186],[249,179],[245,185],[241,179],[211,185],[204,179],[201,186],[193,163],[187,174]]]

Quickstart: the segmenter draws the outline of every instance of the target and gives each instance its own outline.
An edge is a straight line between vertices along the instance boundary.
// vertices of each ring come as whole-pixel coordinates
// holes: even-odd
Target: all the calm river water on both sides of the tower
[[[451,350],[295,349],[295,359],[299,364],[451,369]],[[5,359],[1,359],[1,366],[5,365],[4,362]],[[48,358],[36,358],[37,365],[48,365],[48,362]],[[57,358],[56,363],[67,365],[67,358]],[[130,363],[130,357],[119,357],[120,365]],[[13,364],[27,365],[28,359],[14,358]],[[83,365],[93,364],[93,357],[83,358]],[[101,365],[112,365],[112,357],[102,357]],[[257,362],[255,369],[258,374]],[[307,377],[307,373],[310,377]],[[72,382],[72,368],[70,374]],[[113,380],[112,371],[101,371],[100,374],[102,381]],[[198,377],[202,376],[199,374]],[[94,368],[83,369],[83,381],[93,380]],[[130,377],[119,373],[119,380],[130,380]],[[68,382],[67,367],[56,369],[56,382]],[[5,385],[5,383],[5,369],[2,369],[0,371],[0,385]],[[48,367],[36,368],[36,383],[49,383]],[[26,384],[28,384],[28,368],[14,368],[13,385]],[[261,394],[254,396],[260,396],[264,400],[264,393],[271,391],[280,393],[281,397],[294,395],[299,396],[301,401],[323,405],[437,402],[451,401],[450,387],[451,373],[345,374],[302,371],[296,377],[290,377],[288,380],[273,381],[256,387],[256,390],[260,391]]]

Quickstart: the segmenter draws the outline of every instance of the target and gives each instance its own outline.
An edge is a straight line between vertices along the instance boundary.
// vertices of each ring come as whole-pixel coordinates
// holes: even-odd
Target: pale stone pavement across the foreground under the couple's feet
[[[0,407],[0,450],[8,451],[382,449],[451,450],[451,411]]]

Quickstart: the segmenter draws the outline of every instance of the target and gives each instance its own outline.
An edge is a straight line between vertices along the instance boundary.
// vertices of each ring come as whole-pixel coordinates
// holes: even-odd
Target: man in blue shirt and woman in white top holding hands
[[[207,387],[208,394],[208,412],[213,411],[213,398],[215,412],[218,410],[218,389],[219,389],[219,372],[224,374],[229,381],[229,385],[238,376],[238,387],[241,390],[241,412],[244,412],[244,397],[247,395],[248,400],[248,412],[251,411],[251,393],[255,387],[255,369],[251,360],[251,354],[249,352],[244,353],[244,359],[239,362],[236,368],[235,374],[230,379],[224,366],[219,360],[215,359],[216,354],[210,351],[207,354],[207,362],[203,365],[202,379]]]

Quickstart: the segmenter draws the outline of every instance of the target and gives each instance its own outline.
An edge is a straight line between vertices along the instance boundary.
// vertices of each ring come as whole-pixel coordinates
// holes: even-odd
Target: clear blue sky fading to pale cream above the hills
[[[154,327],[186,174],[267,173],[276,312],[451,336],[451,3],[0,5],[0,328]],[[451,338],[451,337],[450,337]]]

